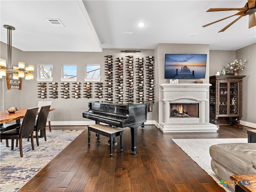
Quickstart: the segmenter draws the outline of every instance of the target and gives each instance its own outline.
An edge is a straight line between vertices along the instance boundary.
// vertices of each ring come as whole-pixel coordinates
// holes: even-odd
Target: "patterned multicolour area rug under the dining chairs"
[[[31,141],[22,140],[23,157],[20,157],[19,147],[11,151],[6,147],[5,140],[0,142],[0,191],[16,192],[33,176],[35,176],[46,164],[59,154],[84,130],[52,130],[46,131],[46,139],[39,138],[39,146],[35,150],[31,148]],[[11,146],[11,140],[9,140]]]

